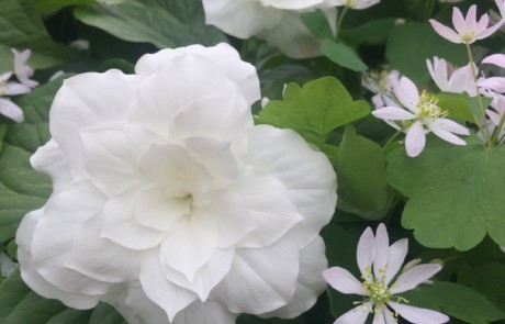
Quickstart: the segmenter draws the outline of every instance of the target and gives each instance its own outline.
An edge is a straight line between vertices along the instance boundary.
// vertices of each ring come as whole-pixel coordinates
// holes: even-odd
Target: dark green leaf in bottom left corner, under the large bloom
[[[90,311],[78,311],[68,309],[57,300],[44,299],[24,284],[19,270],[0,284],[0,323],[126,324],[108,304],[99,304]]]

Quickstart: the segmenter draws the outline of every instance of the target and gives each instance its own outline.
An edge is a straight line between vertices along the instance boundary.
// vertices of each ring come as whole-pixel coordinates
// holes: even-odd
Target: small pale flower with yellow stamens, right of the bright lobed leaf
[[[405,148],[408,156],[415,157],[423,152],[426,144],[426,132],[429,131],[449,143],[467,145],[463,139],[454,134],[470,135],[469,130],[454,121],[446,119],[446,113],[437,105],[435,97],[426,91],[423,91],[419,96],[417,87],[406,77],[402,77],[393,86],[393,90],[405,109],[389,105],[372,111],[372,114],[386,121],[409,121],[403,126],[406,131]],[[425,130],[425,126],[427,130]],[[402,129],[402,126],[397,129]]]

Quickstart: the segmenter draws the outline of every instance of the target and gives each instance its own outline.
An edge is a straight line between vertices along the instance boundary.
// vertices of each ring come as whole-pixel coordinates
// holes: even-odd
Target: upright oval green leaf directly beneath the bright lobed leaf
[[[379,211],[386,203],[384,155],[381,147],[346,127],[338,147],[337,170],[338,198],[363,211]]]

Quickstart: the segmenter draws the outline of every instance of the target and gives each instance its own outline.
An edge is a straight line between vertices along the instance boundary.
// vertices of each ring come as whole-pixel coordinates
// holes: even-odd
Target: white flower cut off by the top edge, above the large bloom
[[[321,55],[321,41],[303,24],[300,14],[321,9],[330,25],[336,0],[203,0],[205,21],[238,38],[256,36],[293,58]]]

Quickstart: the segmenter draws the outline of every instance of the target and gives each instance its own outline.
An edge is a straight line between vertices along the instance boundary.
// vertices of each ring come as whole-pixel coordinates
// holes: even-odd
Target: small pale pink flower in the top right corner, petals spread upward
[[[456,31],[434,19],[429,20],[429,23],[440,36],[457,44],[471,44],[478,40],[485,38],[502,26],[502,22],[500,22],[487,27],[489,22],[490,18],[487,14],[483,14],[481,19],[476,21],[475,4],[470,7],[465,18],[463,18],[463,14],[457,7],[452,9],[452,24]]]

